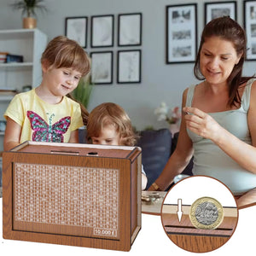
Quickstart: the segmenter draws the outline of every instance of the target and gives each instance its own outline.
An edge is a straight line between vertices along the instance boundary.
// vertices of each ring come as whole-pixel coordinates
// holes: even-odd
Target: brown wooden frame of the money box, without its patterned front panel
[[[107,168],[109,172],[117,171],[118,235],[110,237],[103,232],[97,235],[86,229],[80,232],[72,225],[20,221],[18,211],[15,212],[15,196],[19,197],[18,193],[15,194],[15,189],[19,188],[17,165]],[[137,147],[26,142],[9,152],[3,152],[3,238],[129,251],[141,229],[141,166],[141,148]],[[31,178],[31,170],[28,168],[25,171],[27,177]],[[41,176],[36,178],[40,180]]]

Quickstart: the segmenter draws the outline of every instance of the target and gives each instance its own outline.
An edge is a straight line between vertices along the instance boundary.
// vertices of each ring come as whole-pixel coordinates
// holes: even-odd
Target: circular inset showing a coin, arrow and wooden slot
[[[166,235],[177,247],[207,253],[229,241],[238,209],[224,183],[206,176],[186,177],[168,191],[161,207]]]

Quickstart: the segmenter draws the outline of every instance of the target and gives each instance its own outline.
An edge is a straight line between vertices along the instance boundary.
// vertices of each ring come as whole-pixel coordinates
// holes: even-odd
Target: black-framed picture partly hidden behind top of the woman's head
[[[205,3],[205,24],[223,16],[236,20],[236,1]]]

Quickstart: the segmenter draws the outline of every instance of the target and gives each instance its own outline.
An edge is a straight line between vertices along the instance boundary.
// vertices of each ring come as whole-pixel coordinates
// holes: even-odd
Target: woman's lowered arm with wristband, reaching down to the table
[[[183,92],[183,107],[186,104],[187,92],[188,90]],[[183,113],[181,127],[177,139],[177,147],[166,163],[166,166],[163,172],[161,172],[160,177],[158,177],[154,182],[160,188],[160,190],[165,190],[172,183],[173,178],[177,174],[183,172],[183,169],[188,165],[192,154],[192,142],[186,131],[186,124]],[[148,190],[155,190],[155,188],[151,185]]]

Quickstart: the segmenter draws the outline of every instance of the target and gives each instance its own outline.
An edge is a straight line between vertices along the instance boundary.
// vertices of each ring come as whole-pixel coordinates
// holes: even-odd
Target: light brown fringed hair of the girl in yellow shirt
[[[55,68],[72,67],[82,76],[90,72],[90,61],[84,49],[76,41],[64,36],[58,36],[49,42],[41,63]]]

